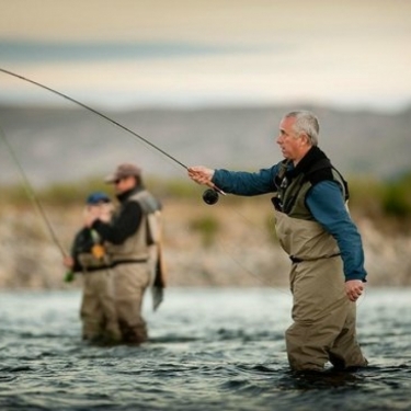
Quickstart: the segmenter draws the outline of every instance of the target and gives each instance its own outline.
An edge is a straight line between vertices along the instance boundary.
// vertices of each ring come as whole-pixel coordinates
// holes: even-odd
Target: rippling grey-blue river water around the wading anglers
[[[411,289],[368,288],[358,339],[369,367],[289,372],[286,289],[171,288],[144,312],[150,341],[89,346],[80,292],[0,293],[0,410],[410,410]]]

